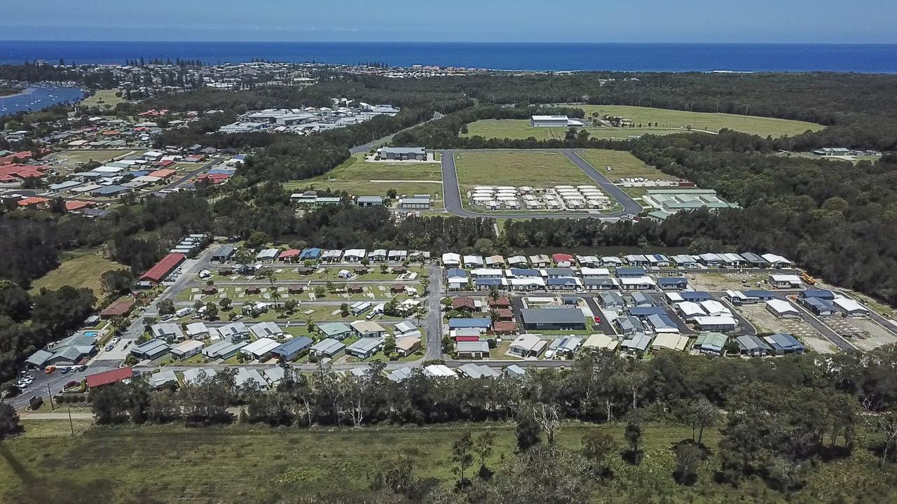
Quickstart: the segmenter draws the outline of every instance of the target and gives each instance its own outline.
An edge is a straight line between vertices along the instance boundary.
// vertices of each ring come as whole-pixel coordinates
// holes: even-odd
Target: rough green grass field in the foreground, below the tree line
[[[25,422],[20,439],[0,444],[0,500],[20,504],[44,502],[239,502],[260,503],[311,493],[358,498],[379,469],[399,457],[414,462],[415,475],[449,485],[451,444],[459,426],[363,430],[269,429],[235,425],[187,429],[180,426],[103,427],[66,438],[68,422],[55,426]],[[34,428],[32,430],[32,425]],[[493,424],[497,432],[489,465],[514,456],[514,429]],[[484,424],[466,426],[474,436]],[[557,433],[565,448],[579,449],[582,436],[606,430],[622,447],[623,425],[567,424]],[[712,482],[719,462],[719,434],[705,433],[710,460],[701,464],[698,482],[681,486],[673,480],[671,449],[691,430],[644,426],[645,456],[627,465],[611,456],[614,478],[603,483],[597,502],[883,502],[893,499],[894,466],[880,471],[875,456],[858,448],[846,460],[811,469],[805,488],[786,496],[755,479],[738,488]],[[861,492],[857,489],[862,488]],[[838,500],[862,493],[864,500]],[[877,499],[876,499],[877,498]],[[361,500],[361,499],[359,499]]]

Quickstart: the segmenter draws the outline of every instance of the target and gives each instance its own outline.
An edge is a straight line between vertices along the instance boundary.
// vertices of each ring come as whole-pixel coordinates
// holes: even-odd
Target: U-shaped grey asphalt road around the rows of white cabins
[[[588,175],[589,178],[604,189],[605,193],[613,197],[617,202],[623,205],[623,210],[612,213],[573,213],[573,212],[553,212],[553,213],[480,213],[471,212],[464,208],[462,204],[461,186],[457,180],[457,168],[455,167],[456,151],[440,151],[442,154],[442,194],[445,200],[445,207],[449,213],[468,218],[477,217],[518,217],[521,219],[606,219],[616,220],[625,217],[631,217],[641,212],[641,205],[636,203],[629,195],[623,192],[620,187],[614,186],[610,180],[601,174],[595,167],[588,164],[588,161],[579,157],[572,149],[562,149],[560,151],[567,156],[574,165]],[[463,152],[463,151],[462,151]]]

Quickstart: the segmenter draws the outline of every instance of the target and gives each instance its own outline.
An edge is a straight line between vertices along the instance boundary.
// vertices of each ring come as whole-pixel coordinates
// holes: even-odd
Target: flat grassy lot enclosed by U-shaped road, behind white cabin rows
[[[457,178],[461,193],[475,186],[594,185],[561,152],[478,151],[458,152]]]

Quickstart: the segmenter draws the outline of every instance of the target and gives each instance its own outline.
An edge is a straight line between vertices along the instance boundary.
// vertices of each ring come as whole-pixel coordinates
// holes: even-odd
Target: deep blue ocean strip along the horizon
[[[263,58],[498,70],[897,73],[895,44],[0,41],[0,64],[21,64],[26,59],[124,64],[141,56],[199,59],[206,64]]]

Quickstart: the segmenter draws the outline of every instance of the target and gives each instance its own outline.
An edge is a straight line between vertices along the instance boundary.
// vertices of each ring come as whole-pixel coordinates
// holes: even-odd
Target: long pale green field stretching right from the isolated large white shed
[[[776,119],[772,117],[741,116],[736,114],[715,114],[711,112],[687,112],[684,110],[652,109],[649,107],[627,107],[622,105],[574,105],[586,111],[586,116],[591,117],[597,113],[601,116],[623,117],[631,121],[634,128],[605,128],[608,131],[638,132],[630,135],[653,133],[644,131],[648,123],[653,128],[675,130],[691,128],[692,131],[718,132],[722,128],[734,129],[744,133],[761,136],[799,135],[806,130],[819,131],[822,125],[807,123],[804,121],[792,121],[788,119]],[[750,111],[750,110],[748,110]],[[669,131],[670,129],[674,131]],[[655,133],[663,135],[663,132]]]

